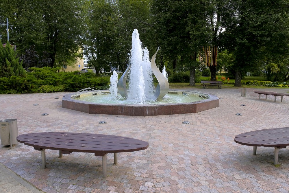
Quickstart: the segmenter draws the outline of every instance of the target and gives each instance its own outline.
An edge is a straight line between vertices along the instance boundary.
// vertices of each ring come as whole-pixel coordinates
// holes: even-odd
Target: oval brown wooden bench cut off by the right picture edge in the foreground
[[[279,149],[289,145],[289,127],[262,129],[236,135],[236,143],[253,146],[253,155],[257,155],[257,147],[275,147],[274,165],[278,163]]]

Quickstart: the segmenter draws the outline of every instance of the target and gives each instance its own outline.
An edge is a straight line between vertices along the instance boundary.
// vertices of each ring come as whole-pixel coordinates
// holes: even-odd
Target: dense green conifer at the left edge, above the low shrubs
[[[8,42],[2,45],[0,40],[0,77],[25,76],[26,71],[14,48],[16,47]]]

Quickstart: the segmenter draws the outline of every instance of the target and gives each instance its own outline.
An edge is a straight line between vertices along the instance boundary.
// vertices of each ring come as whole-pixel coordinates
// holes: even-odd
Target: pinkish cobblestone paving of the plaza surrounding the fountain
[[[276,167],[274,148],[257,148],[254,156],[252,147],[234,142],[243,132],[289,127],[289,97],[284,96],[283,102],[277,97],[274,102],[271,95],[267,100],[261,95],[259,100],[253,93],[262,89],[247,89],[246,97],[240,96],[240,89],[197,90],[223,98],[220,106],[200,113],[133,117],[64,109],[64,93],[0,95],[0,120],[17,119],[19,135],[86,132],[133,137],[150,144],[146,150],[119,153],[117,165],[113,154],[108,154],[106,179],[102,178],[102,158],[92,153],[73,152],[59,158],[58,151],[46,150],[47,168],[42,169],[40,151],[18,143],[13,150],[0,146],[0,163],[47,193],[289,192],[287,149],[279,150]]]

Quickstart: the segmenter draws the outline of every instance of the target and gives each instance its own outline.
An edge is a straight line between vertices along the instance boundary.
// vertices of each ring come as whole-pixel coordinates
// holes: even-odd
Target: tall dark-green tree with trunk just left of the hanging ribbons
[[[197,53],[208,44],[208,4],[205,1],[153,1],[154,26],[164,52],[181,60],[190,69],[190,86],[195,86]]]

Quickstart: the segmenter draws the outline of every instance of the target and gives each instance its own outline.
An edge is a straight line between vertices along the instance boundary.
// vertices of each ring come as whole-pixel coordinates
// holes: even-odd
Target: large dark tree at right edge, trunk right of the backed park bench
[[[241,86],[241,73],[254,68],[256,61],[274,60],[288,51],[288,3],[242,0],[230,4],[234,11],[223,18],[220,40],[236,56],[234,86]]]

